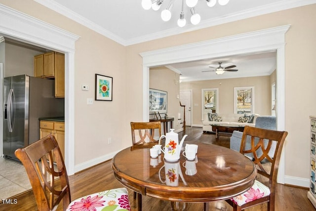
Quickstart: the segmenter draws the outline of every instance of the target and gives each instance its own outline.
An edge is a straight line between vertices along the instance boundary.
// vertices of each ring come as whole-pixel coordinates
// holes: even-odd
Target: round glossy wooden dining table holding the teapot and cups
[[[176,162],[165,161],[163,153],[151,158],[149,148],[132,146],[113,157],[112,168],[127,188],[171,202],[226,200],[250,189],[257,174],[250,159],[222,146],[195,144],[193,161],[186,160],[182,151]]]

